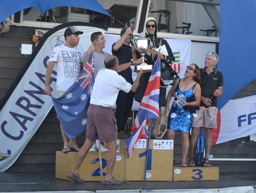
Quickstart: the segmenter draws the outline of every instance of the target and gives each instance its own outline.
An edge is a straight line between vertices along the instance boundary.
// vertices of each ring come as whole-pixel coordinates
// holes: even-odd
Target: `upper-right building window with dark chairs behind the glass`
[[[215,7],[215,14],[220,15],[220,6],[215,5]],[[157,23],[160,23],[158,24],[160,32],[219,37],[202,4],[151,0],[148,17],[154,17]]]

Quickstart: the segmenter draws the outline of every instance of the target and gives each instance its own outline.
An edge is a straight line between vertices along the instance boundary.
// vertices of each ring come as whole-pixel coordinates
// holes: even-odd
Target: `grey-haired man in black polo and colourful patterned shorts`
[[[200,128],[204,126],[205,135],[205,156],[204,167],[211,167],[209,154],[212,147],[212,129],[217,128],[217,97],[222,96],[223,75],[214,67],[218,63],[219,57],[215,52],[208,52],[204,61],[204,69],[200,69],[201,74],[201,104],[197,116],[192,121],[192,134],[190,137],[190,163],[188,166],[195,167],[195,151],[197,137]]]

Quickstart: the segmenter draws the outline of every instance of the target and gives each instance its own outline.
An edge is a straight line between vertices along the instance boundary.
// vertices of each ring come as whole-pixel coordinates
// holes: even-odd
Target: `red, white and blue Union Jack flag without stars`
[[[158,118],[159,115],[159,89],[160,89],[160,60],[156,60],[153,71],[148,80],[144,96],[140,103],[138,114],[132,125],[132,135],[125,139],[128,149],[128,158],[132,158],[134,145],[140,138],[148,138],[149,119]]]

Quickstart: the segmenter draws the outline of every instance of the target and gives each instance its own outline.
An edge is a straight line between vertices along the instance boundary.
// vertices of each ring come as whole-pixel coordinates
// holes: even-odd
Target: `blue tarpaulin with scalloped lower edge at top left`
[[[101,4],[97,0],[76,0],[76,1],[68,1],[68,0],[20,0],[20,1],[0,1],[0,22],[4,19],[8,18],[12,14],[27,9],[30,7],[35,7],[40,10],[43,14],[53,7],[60,6],[71,6],[71,7],[80,7],[84,9],[89,9],[92,11],[97,11],[99,13],[103,13],[105,15],[109,15],[109,13],[101,6]]]

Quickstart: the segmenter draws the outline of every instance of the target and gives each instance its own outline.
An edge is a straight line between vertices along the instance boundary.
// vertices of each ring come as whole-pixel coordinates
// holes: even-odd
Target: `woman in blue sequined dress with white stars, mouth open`
[[[189,149],[188,135],[193,118],[192,112],[188,110],[186,106],[196,107],[200,105],[200,80],[201,78],[199,67],[196,64],[191,64],[190,66],[187,66],[185,78],[176,79],[174,81],[173,86],[169,91],[166,99],[165,114],[167,114],[167,112],[170,110],[169,103],[172,96],[174,96],[174,101],[168,115],[167,136],[168,139],[174,140],[175,131],[180,131],[182,142],[181,167],[188,166],[186,162]],[[184,98],[184,96],[186,98]],[[193,97],[195,98],[195,101],[187,102],[191,101],[191,98]]]

